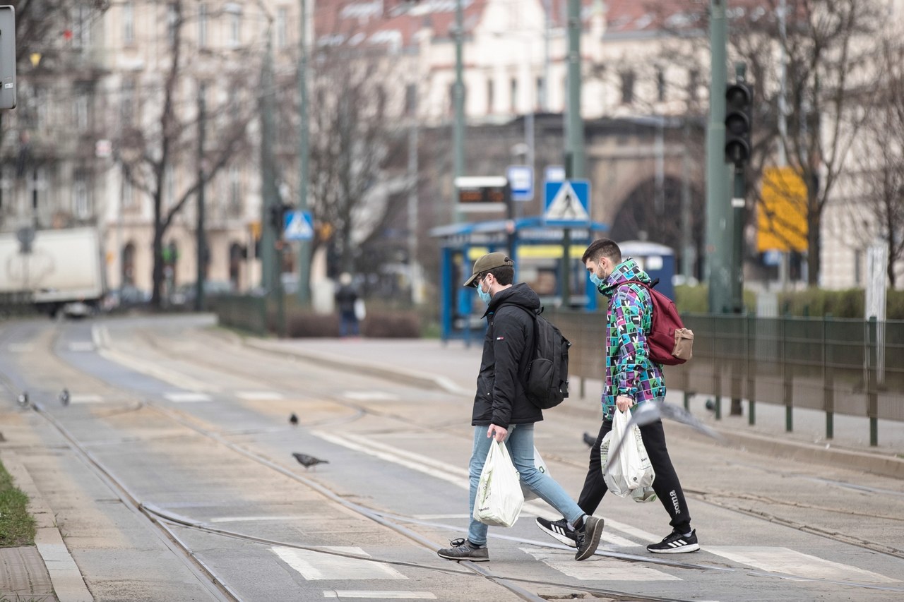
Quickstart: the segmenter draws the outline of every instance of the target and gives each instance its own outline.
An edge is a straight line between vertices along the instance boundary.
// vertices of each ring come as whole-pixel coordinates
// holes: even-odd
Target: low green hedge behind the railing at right
[[[706,286],[675,287],[675,306],[682,313],[709,313],[709,291]],[[904,320],[904,290],[889,289],[887,292],[886,318]],[[832,315],[838,318],[862,318],[865,293],[862,288],[847,290],[806,290],[778,293],[779,315],[822,317]],[[749,313],[757,311],[757,296],[752,291],[744,291],[744,306]]]

